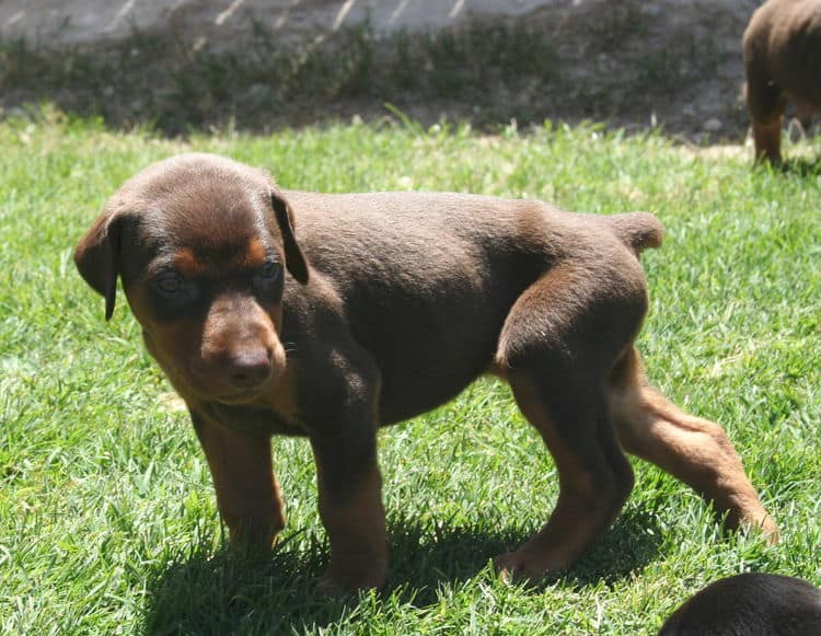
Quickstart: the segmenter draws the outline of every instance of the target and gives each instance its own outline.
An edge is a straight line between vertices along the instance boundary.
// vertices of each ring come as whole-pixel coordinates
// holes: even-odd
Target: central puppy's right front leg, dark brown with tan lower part
[[[321,585],[334,592],[379,588],[388,569],[388,536],[375,431],[352,439],[312,438],[311,447],[320,517],[331,543]]]

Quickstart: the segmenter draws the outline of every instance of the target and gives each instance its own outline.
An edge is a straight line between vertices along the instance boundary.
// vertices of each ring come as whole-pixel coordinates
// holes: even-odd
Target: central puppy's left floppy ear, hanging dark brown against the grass
[[[119,215],[103,211],[74,248],[74,264],[80,275],[105,298],[105,320],[111,320],[114,313],[117,293],[118,221]]]

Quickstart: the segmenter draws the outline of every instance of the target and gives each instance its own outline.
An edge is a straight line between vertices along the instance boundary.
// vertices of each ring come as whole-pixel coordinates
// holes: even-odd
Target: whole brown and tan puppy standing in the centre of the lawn
[[[716,424],[649,386],[633,342],[652,215],[437,193],[280,190],[234,161],[186,154],[126,182],[82,238],[80,274],[116,280],[185,400],[232,543],[285,523],[270,436],[304,436],[331,543],[325,583],[384,581],[378,427],[448,402],[483,373],[512,388],[559,473],[542,530],[505,576],[567,567],[633,487],[622,449],[692,485],[730,525],[777,529]],[[287,274],[286,274],[287,271]]]

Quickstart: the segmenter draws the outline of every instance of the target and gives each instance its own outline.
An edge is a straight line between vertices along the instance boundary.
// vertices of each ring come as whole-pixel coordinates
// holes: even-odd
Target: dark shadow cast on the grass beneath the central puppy
[[[469,583],[497,554],[525,541],[531,528],[496,531],[446,523],[391,524],[392,565],[385,589],[374,595],[328,598],[316,587],[327,546],[316,539],[297,550],[294,536],[270,560],[248,563],[227,552],[212,555],[204,544],[166,564],[147,590],[146,633],[255,634],[315,632],[355,618],[362,603],[393,602],[425,608],[438,601],[441,586]],[[531,588],[541,593],[565,581],[574,589],[601,580],[615,582],[640,570],[658,554],[661,532],[654,517],[627,510],[571,569]]]

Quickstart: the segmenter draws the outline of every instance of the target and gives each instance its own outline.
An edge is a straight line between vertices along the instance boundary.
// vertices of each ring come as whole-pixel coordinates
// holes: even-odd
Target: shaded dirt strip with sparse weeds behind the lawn
[[[759,4],[7,0],[0,107],[51,100],[178,134],[393,117],[391,103],[424,125],[592,119],[739,141],[740,39]]]

